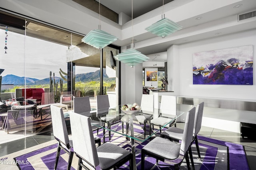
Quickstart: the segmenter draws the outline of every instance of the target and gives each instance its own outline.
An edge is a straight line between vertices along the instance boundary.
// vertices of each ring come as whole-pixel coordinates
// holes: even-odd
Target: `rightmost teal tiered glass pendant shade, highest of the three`
[[[159,37],[165,38],[168,35],[182,29],[182,26],[172,20],[169,20],[168,18],[165,18],[164,14],[162,14],[162,20],[153,23],[145,29]]]

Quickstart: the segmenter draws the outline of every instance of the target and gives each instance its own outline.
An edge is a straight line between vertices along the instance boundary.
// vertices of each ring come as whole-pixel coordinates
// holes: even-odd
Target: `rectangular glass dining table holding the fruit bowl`
[[[152,113],[143,113],[143,110],[136,111],[136,113],[125,113],[121,108],[123,105],[119,105],[116,107],[108,107],[104,109],[98,109],[95,111],[90,111],[90,113],[80,113],[82,115],[86,115],[88,117],[91,117],[92,121],[91,124],[92,126],[96,126],[99,128],[103,128],[107,131],[110,131],[112,133],[118,133],[120,135],[123,135],[126,137],[127,140],[130,140],[131,143],[131,150],[133,154],[133,169],[136,170],[136,156],[135,156],[135,144],[134,140],[138,141],[140,143],[150,140],[152,137],[156,136],[159,131],[165,127],[169,127],[170,123],[173,123],[180,117],[184,112],[182,111],[175,111],[176,115],[174,115],[174,111],[171,110],[170,108],[170,115],[166,114],[166,109],[165,109],[165,114],[161,114],[161,109],[154,109]],[[151,116],[151,117],[150,117]],[[161,125],[159,127],[157,125],[156,128],[149,128],[149,130],[145,131],[144,128],[144,121],[143,117],[150,117],[150,119],[155,119],[157,117],[163,117],[166,118],[166,121],[164,125]],[[148,121],[147,121],[148,122]],[[120,130],[120,128],[116,128],[115,125],[120,123],[123,123],[125,125],[124,130]],[[143,130],[143,133],[145,133],[145,137],[143,133],[137,133],[138,130],[138,125],[139,127]],[[147,123],[148,125],[148,123]],[[135,133],[134,133],[135,132]],[[104,133],[104,135],[106,135]],[[103,136],[105,138],[105,136]],[[105,140],[104,140],[105,141]]]

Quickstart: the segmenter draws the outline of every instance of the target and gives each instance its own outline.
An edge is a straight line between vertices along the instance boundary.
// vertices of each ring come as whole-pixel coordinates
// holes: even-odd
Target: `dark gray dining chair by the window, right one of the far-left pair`
[[[109,110],[109,100],[108,95],[98,95],[96,96],[96,116],[100,120],[100,123],[106,123],[107,127],[111,129],[111,123],[116,119],[116,117],[108,115]],[[108,131],[108,138],[110,141],[111,132]],[[103,142],[105,143],[105,129],[103,128]]]

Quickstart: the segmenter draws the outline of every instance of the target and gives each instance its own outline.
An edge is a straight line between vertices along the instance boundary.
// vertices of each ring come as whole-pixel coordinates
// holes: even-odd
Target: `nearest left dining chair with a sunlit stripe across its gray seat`
[[[130,170],[132,170],[132,153],[128,150],[109,142],[96,148],[89,117],[71,112],[70,124],[73,149],[79,158],[78,170],[82,170],[82,167],[96,169],[98,165],[102,170],[116,169],[127,161],[130,161]]]

